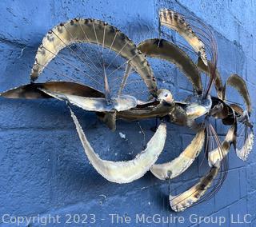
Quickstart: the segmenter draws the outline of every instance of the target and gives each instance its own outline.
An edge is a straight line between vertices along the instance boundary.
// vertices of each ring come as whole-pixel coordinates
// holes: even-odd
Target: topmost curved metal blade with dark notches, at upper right
[[[159,12],[160,25],[166,26],[171,30],[175,30],[192,46],[194,51],[200,55],[202,61],[207,66],[206,49],[202,40],[194,33],[190,25],[186,22],[182,15],[173,10],[163,9]]]

